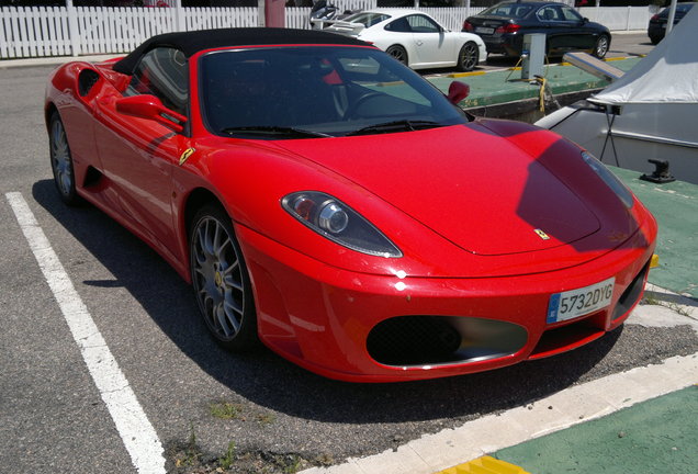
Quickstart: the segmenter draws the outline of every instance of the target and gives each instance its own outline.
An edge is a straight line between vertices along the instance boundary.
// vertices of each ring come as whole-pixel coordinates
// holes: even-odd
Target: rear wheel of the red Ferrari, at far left
[[[68,136],[60,115],[56,111],[48,120],[48,153],[54,183],[60,200],[68,205],[80,204],[82,200],[75,190],[75,168]]]

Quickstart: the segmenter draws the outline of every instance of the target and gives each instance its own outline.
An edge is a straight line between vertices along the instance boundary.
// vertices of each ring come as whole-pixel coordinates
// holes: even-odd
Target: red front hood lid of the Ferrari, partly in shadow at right
[[[525,150],[491,128],[473,122],[277,144],[341,174],[473,253],[547,250],[600,228],[578,190],[538,159],[544,150]]]

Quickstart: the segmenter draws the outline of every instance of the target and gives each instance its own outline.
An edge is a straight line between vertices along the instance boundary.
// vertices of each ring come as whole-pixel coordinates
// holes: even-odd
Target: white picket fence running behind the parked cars
[[[338,0],[340,11],[374,8],[375,0]],[[481,8],[421,8],[449,30]],[[611,30],[642,30],[646,7],[582,8],[582,14]],[[309,8],[286,8],[286,27],[309,29]],[[0,8],[0,60],[45,56],[127,53],[148,37],[173,31],[256,26],[250,8]]]

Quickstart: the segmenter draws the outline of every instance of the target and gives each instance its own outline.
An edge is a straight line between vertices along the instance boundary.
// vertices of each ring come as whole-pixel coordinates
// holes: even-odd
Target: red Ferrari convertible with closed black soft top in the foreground
[[[191,282],[215,340],[358,382],[553,356],[642,295],[652,215],[596,158],[313,31],[153,37],[50,77],[60,198]]]

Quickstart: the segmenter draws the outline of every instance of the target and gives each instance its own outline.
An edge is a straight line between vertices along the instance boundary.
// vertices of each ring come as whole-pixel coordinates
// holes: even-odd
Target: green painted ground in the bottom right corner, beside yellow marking
[[[531,474],[696,474],[698,386],[498,451]]]

